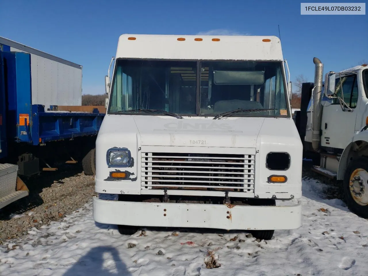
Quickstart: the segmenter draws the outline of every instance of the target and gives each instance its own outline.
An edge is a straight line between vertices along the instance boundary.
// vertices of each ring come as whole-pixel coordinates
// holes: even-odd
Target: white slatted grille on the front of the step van
[[[142,152],[142,188],[253,192],[254,155]]]

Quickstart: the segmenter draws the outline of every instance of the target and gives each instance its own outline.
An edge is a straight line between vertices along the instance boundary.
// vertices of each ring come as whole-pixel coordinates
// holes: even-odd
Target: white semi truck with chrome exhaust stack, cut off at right
[[[342,183],[348,208],[368,218],[368,66],[323,76],[314,58],[313,83],[302,84],[296,124],[312,170]]]

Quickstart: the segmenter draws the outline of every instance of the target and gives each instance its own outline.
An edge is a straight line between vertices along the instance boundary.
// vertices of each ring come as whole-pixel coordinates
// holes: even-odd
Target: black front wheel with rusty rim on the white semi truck
[[[352,160],[343,181],[345,202],[351,212],[368,219],[368,159]]]

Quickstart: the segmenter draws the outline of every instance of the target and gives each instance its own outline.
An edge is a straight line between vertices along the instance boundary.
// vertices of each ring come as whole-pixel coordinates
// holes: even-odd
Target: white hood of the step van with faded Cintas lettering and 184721
[[[131,116],[142,146],[206,146],[255,148],[264,118],[177,119]]]

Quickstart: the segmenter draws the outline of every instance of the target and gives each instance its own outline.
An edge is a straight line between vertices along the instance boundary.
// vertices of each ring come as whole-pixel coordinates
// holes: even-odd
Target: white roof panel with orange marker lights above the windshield
[[[135,37],[135,40],[128,40]],[[185,38],[178,41],[177,38]],[[202,38],[202,41],[195,41]],[[212,41],[219,38],[220,41]],[[269,39],[270,42],[263,42]],[[276,36],[121,35],[116,58],[283,60]]]

